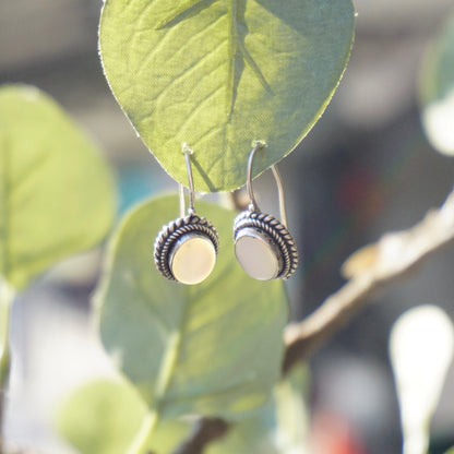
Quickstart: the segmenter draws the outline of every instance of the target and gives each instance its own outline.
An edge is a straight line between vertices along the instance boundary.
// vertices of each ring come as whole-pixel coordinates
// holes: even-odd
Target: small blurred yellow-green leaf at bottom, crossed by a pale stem
[[[75,390],[59,408],[56,426],[81,454],[124,454],[145,415],[146,406],[131,385],[106,379]],[[184,422],[163,422],[147,447],[169,454],[189,430]]]

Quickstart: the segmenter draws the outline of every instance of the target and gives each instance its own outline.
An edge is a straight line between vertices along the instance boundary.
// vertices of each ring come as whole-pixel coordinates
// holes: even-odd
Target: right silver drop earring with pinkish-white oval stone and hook
[[[279,195],[280,222],[261,213],[252,190],[253,159],[263,147],[263,143],[258,142],[249,155],[247,190],[250,203],[234,223],[235,254],[246,273],[255,279],[287,279],[298,266],[298,250],[287,230],[284,188],[277,168],[271,167]]]

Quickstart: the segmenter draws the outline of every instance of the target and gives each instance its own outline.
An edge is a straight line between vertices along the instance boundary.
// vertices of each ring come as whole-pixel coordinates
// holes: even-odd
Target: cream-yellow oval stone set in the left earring
[[[204,280],[214,268],[216,249],[210,238],[198,234],[183,236],[170,254],[170,268],[182,284],[193,285]]]

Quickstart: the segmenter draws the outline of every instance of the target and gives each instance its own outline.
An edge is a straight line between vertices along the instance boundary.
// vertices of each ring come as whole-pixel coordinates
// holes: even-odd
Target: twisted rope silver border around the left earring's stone
[[[171,220],[166,226],[163,226],[154,242],[155,265],[158,272],[169,280],[178,280],[170,270],[169,255],[171,249],[183,235],[191,232],[202,234],[208,237],[213,242],[217,255],[219,237],[212,223],[194,213]]]

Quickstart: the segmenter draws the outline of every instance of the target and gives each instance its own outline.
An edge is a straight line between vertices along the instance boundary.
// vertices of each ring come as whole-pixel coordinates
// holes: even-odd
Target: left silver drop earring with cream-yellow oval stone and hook
[[[191,148],[183,145],[189,182],[189,208],[184,215],[184,188],[180,183],[180,217],[163,226],[154,244],[157,270],[169,280],[193,285],[204,280],[214,268],[219,248],[216,229],[195,214]]]

